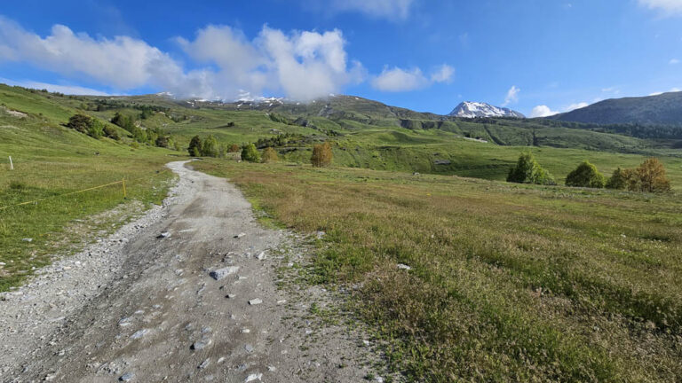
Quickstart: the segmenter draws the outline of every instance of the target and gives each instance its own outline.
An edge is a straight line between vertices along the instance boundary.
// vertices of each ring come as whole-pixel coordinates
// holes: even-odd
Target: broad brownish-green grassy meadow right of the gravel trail
[[[219,160],[194,168],[239,184],[279,223],[325,231],[311,280],[355,286],[355,309],[411,380],[682,376],[679,194]]]

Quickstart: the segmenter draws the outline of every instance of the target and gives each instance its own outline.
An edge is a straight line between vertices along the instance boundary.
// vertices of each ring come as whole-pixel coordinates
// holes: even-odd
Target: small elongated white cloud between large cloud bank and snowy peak
[[[439,66],[429,77],[426,77],[418,67],[402,69],[397,66],[393,68],[386,66],[382,73],[372,80],[372,87],[388,92],[419,90],[436,82],[451,82],[454,74],[455,68],[447,64]]]

